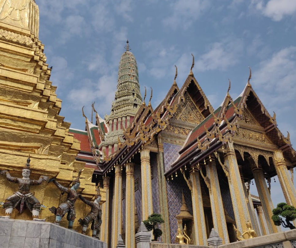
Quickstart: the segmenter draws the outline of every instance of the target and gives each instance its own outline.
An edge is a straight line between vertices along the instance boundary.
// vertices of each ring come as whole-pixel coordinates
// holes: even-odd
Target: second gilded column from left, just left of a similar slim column
[[[112,242],[111,247],[117,245],[117,239],[121,234],[121,189],[122,189],[122,172],[121,166],[115,166],[115,183],[112,211]]]

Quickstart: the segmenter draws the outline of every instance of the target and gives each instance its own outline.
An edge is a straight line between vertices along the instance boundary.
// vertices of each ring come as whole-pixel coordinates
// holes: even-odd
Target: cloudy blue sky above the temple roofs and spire
[[[156,107],[173,83],[181,87],[195,55],[195,78],[214,108],[251,84],[280,130],[296,143],[295,0],[37,0],[40,40],[61,115],[84,129],[81,108],[103,117],[114,100],[118,64],[127,38],[141,92],[153,88]],[[278,181],[278,180],[277,180]],[[274,191],[278,188],[275,184]],[[272,188],[273,189],[273,188]],[[271,190],[272,191],[272,190]],[[279,191],[279,190],[278,190]],[[278,201],[276,196],[274,204]]]

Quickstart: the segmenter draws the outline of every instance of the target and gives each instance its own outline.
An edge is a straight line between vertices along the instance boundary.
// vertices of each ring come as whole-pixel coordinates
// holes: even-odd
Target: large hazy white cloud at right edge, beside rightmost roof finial
[[[252,82],[260,89],[267,108],[283,112],[293,107],[296,95],[296,47],[275,52],[253,72]],[[272,99],[272,101],[271,101]],[[279,108],[279,106],[281,106]],[[284,106],[288,108],[285,109]]]

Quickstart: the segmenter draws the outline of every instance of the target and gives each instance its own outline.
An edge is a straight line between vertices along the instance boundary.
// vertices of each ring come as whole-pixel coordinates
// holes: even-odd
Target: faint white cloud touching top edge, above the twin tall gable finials
[[[172,28],[181,26],[184,29],[188,29],[211,6],[211,1],[176,0],[169,6],[171,13],[163,19],[163,24]]]

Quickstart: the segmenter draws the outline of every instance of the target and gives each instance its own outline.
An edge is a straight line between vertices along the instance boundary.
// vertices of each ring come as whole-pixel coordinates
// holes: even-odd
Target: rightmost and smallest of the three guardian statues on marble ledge
[[[90,212],[83,218],[79,219],[80,225],[82,225],[82,234],[85,234],[85,231],[90,223],[91,229],[93,230],[93,237],[100,239],[101,224],[102,224],[102,210],[100,207],[101,194],[100,194],[100,184],[98,185],[97,194],[94,201],[86,200],[84,197],[79,195],[79,198],[87,205],[91,206]]]

